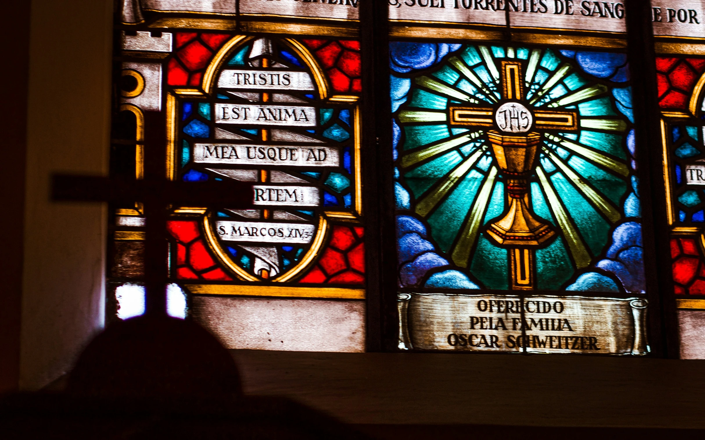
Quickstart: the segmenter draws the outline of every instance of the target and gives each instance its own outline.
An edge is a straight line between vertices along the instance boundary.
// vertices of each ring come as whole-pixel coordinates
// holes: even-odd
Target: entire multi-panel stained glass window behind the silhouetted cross
[[[111,174],[252,187],[171,206],[168,313],[230,348],[673,353],[705,325],[705,4],[671,3],[119,1]],[[111,213],[127,319],[149,215]]]

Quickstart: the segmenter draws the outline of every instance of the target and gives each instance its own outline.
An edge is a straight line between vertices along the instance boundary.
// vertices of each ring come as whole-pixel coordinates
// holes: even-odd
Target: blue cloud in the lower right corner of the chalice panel
[[[595,267],[613,273],[630,294],[645,293],[641,224],[626,222],[616,227],[612,233],[612,245],[607,250],[606,257],[599,260]],[[619,291],[612,279],[598,272],[585,272],[580,277],[577,277],[575,282],[566,287],[565,290]]]

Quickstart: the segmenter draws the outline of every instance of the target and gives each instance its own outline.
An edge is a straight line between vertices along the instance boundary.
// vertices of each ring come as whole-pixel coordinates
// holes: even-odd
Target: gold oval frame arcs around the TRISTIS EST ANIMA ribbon
[[[235,37],[228,40],[228,42],[224,44],[223,47],[221,47],[221,49],[214,56],[213,61],[211,61],[211,63],[206,68],[206,71],[203,75],[202,88],[205,93],[212,94],[212,91],[216,84],[217,73],[222,70],[223,63],[225,62],[226,57],[231,54],[232,51],[238,49],[243,44],[250,42],[250,40],[254,38],[255,37],[248,37],[246,35],[236,35]],[[287,46],[289,46],[293,51],[295,51],[295,53],[300,58],[302,58],[302,60],[307,64],[318,87],[319,96],[321,96],[321,99],[326,99],[330,87],[326,80],[324,70],[321,68],[321,65],[319,65],[319,63],[316,61],[311,52],[295,39],[286,38],[282,39],[281,41],[283,41]],[[236,277],[240,278],[243,281],[262,282],[262,279],[260,279],[259,277],[256,277],[255,275],[252,275],[249,272],[245,271],[243,268],[240,268],[240,266],[237,265],[232,260],[232,258],[230,258],[230,256],[228,256],[228,253],[223,251],[220,242],[213,233],[211,225],[212,220],[210,219],[211,215],[212,212],[206,213],[203,216],[203,228],[206,234],[206,241],[208,243],[208,246],[212,249],[216,256],[218,256],[219,260],[221,260],[221,263],[223,263],[223,265],[225,265],[229,270],[231,270],[231,272],[233,272]],[[319,222],[316,231],[316,236],[311,242],[311,247],[309,247],[309,250],[304,254],[300,262],[290,270],[279,275],[278,277],[268,279],[267,281],[287,282],[300,275],[303,270],[309,268],[317,257],[319,251],[321,250],[321,246],[323,246],[324,242],[326,241],[328,230],[328,220],[326,220],[325,215],[319,214]]]

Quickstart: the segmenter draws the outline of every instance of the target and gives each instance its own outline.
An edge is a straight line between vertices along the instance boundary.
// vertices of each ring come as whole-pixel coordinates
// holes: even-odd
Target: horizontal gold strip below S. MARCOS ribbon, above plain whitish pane
[[[279,296],[288,298],[364,299],[364,289],[339,287],[243,286],[234,284],[185,284],[196,295]]]

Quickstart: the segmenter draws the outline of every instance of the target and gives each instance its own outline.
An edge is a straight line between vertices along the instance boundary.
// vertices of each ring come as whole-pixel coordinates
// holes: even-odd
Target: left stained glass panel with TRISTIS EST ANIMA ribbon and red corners
[[[125,1],[122,11],[114,172],[145,177],[145,150],[161,141],[170,180],[252,183],[248,209],[171,209],[169,313],[231,348],[364,349],[357,1]],[[150,132],[161,139],[149,144]],[[137,203],[114,218],[118,318],[144,313],[142,214]]]

